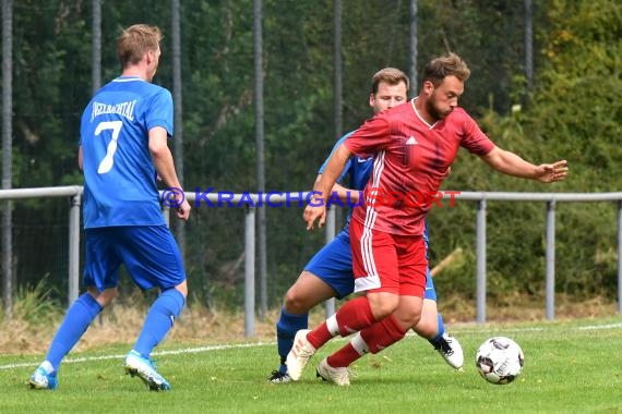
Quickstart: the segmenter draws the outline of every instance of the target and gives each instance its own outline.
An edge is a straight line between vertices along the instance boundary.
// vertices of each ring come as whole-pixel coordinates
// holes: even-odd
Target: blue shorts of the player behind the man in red
[[[318,252],[304,267],[324,283],[333,288],[335,297],[344,299],[355,291],[355,275],[352,273],[352,252],[348,230],[339,234]],[[428,269],[424,299],[436,301],[434,282]]]

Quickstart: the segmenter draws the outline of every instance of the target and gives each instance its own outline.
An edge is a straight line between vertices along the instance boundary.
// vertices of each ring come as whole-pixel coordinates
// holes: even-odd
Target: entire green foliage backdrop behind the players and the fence
[[[333,1],[267,0],[262,8],[265,183],[268,191],[310,190],[332,148],[334,125]],[[14,5],[14,187],[81,184],[76,168],[79,122],[92,95],[91,2],[25,0]],[[343,132],[371,115],[370,76],[382,66],[407,70],[409,1],[342,1]],[[255,75],[253,1],[181,2],[181,78],[187,190],[255,192]],[[535,88],[526,90],[524,2],[419,0],[417,70],[448,50],[471,69],[460,105],[502,148],[535,162],[566,158],[564,183],[539,183],[490,173],[460,153],[445,188],[462,191],[610,192],[620,190],[622,166],[622,5],[615,0],[534,1]],[[101,82],[119,74],[116,38],[136,22],[163,28],[163,58],[155,82],[171,88],[169,2],[146,10],[140,2],[101,3]],[[528,98],[528,99],[527,99]],[[179,126],[179,125],[178,125]],[[187,227],[191,291],[204,303],[238,301],[243,277],[243,208],[201,206]],[[558,205],[558,290],[613,295],[615,220],[611,206]],[[19,224],[49,227],[40,249],[65,266],[64,206],[27,202]],[[270,303],[323,244],[308,234],[301,209],[266,211]],[[543,290],[541,204],[490,204],[489,294]],[[60,217],[60,219],[59,219]],[[50,220],[53,224],[49,224]],[[23,222],[23,221],[15,221]],[[61,224],[59,224],[61,223]],[[174,224],[175,226],[175,224]],[[460,260],[438,279],[443,295],[475,294],[475,204],[430,216],[432,265],[462,248]],[[17,284],[50,273],[63,287],[65,270],[49,270],[49,256],[32,257],[19,228]],[[28,233],[29,234],[29,233]],[[589,234],[596,242],[585,243]],[[52,246],[52,247],[48,247]],[[236,265],[236,266],[234,266]],[[231,270],[234,269],[234,270]],[[63,291],[63,288],[59,288]],[[63,295],[64,296],[64,295]],[[238,303],[236,304],[238,305]]]

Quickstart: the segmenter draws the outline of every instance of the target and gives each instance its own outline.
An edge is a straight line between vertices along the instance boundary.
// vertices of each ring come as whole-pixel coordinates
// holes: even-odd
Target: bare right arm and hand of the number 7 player
[[[183,190],[177,178],[175,171],[175,163],[172,161],[172,154],[168,148],[167,132],[164,127],[156,126],[149,130],[149,153],[154,160],[158,176],[165,182],[166,185],[179,190]],[[190,204],[186,199],[179,199],[181,204],[177,207],[177,217],[188,220],[190,217]]]

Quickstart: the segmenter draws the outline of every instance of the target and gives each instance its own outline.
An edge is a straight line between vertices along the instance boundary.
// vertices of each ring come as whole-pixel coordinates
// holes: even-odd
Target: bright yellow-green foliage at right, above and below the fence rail
[[[620,191],[622,94],[620,70],[622,8],[612,1],[554,1],[539,26],[541,70],[527,107],[516,96],[509,114],[495,112],[493,98],[479,123],[502,148],[534,162],[567,159],[569,180],[553,186],[489,173],[476,157],[458,157],[445,187],[463,191]],[[607,52],[605,52],[607,51]],[[469,81],[470,83],[470,81]],[[465,95],[470,94],[470,88]],[[543,204],[488,205],[487,270],[490,297],[510,291],[542,296],[545,290]],[[579,297],[615,300],[617,206],[558,204],[555,291]],[[459,246],[475,257],[475,204],[434,212],[430,218],[432,264]],[[456,233],[464,233],[463,235]],[[451,234],[451,235],[450,235]],[[447,235],[450,235],[447,240]],[[586,238],[589,240],[586,243]],[[475,292],[475,259],[438,278],[439,291]],[[465,279],[466,278],[466,279]],[[447,280],[450,279],[450,280]],[[474,293],[470,293],[474,294]]]

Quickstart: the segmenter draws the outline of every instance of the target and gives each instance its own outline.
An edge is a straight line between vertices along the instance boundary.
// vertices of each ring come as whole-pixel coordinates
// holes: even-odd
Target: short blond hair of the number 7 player
[[[134,24],[125,28],[117,40],[117,54],[123,69],[136,64],[147,51],[159,48],[162,32],[157,26]]]

